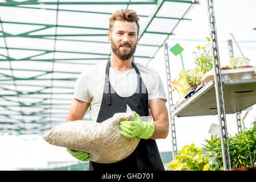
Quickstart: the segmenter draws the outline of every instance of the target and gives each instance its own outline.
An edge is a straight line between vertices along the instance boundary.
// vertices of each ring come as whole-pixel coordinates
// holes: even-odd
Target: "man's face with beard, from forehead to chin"
[[[137,24],[135,22],[115,21],[112,32],[108,32],[111,48],[121,60],[133,56],[138,44]]]

